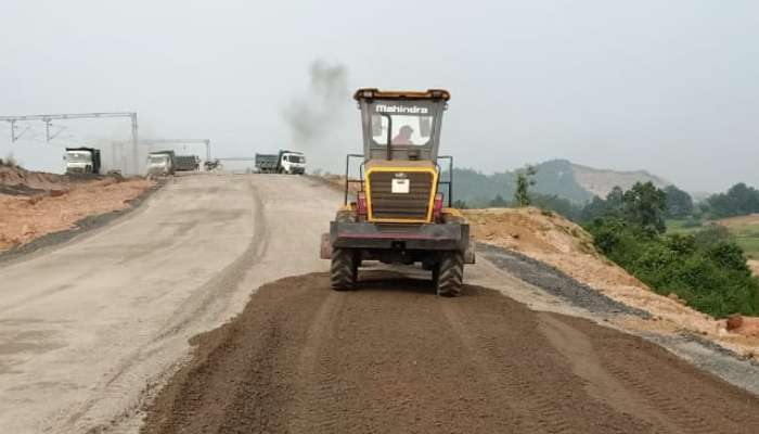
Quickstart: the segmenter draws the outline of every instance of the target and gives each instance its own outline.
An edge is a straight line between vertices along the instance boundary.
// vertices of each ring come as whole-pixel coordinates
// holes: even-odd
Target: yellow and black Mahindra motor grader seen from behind
[[[464,264],[474,264],[475,255],[468,224],[450,207],[452,158],[438,155],[450,93],[359,89],[353,98],[363,154],[346,157],[345,204],[322,235],[332,288],[355,289],[362,261],[380,260],[421,264],[438,295],[460,295]],[[361,159],[358,179],[349,177],[351,158]],[[448,180],[441,180],[442,161]]]

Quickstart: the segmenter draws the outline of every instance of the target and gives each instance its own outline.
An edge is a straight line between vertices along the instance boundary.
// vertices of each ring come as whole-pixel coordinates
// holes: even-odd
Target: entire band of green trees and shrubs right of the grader
[[[695,206],[674,186],[659,189],[638,182],[629,190],[614,188],[605,199],[586,206],[529,191],[530,167],[517,176],[514,197],[497,195],[490,206],[536,205],[579,221],[596,248],[662,295],[677,294],[691,307],[725,317],[759,315],[759,279],[726,228],[711,225],[691,234],[666,234],[667,218],[720,218],[759,213],[759,191],[743,183],[709,196]],[[465,205],[465,204],[458,204]]]

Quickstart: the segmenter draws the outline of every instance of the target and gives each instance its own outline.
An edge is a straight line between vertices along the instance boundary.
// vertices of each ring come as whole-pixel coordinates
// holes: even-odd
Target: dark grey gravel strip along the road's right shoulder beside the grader
[[[518,279],[557,295],[570,304],[597,314],[628,314],[649,318],[651,314],[616,302],[576,281],[558,269],[514,251],[478,243],[477,254]]]

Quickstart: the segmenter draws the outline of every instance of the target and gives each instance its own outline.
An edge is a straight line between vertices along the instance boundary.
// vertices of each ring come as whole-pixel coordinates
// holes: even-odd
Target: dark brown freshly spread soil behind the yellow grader
[[[143,433],[752,433],[759,398],[661,347],[466,286],[263,285],[198,335]]]

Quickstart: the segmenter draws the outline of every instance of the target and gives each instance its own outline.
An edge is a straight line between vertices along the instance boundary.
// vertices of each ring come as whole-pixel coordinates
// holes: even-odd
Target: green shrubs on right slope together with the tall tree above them
[[[673,205],[667,191],[651,182],[615,189],[606,200],[594,201],[586,229],[599,251],[659,294],[677,294],[715,317],[758,315],[759,279],[726,228],[665,234],[668,215],[693,213],[681,199]]]

